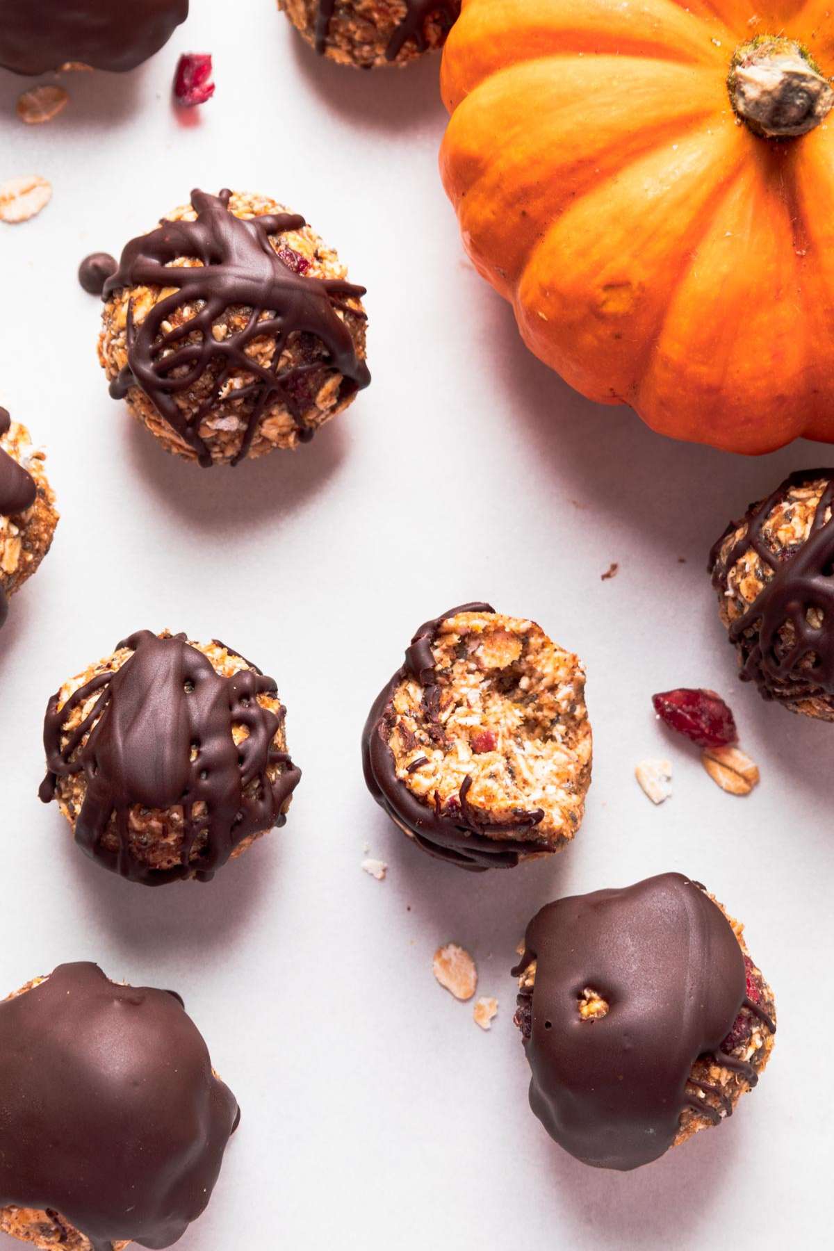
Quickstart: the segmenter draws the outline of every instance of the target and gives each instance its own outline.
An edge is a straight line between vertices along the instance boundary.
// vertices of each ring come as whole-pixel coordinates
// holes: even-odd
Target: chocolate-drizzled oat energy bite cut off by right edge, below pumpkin
[[[710,553],[740,677],[790,712],[834,721],[834,469],[793,473]]]

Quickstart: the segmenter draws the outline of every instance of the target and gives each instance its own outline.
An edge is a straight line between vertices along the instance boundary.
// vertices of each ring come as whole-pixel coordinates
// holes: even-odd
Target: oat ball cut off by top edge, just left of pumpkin
[[[408,65],[441,48],[461,0],[278,0],[303,39],[340,65]]]

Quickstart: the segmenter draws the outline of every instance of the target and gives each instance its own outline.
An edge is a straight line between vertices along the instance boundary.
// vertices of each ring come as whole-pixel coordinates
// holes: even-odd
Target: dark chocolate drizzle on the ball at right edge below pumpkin
[[[793,488],[820,479],[828,479],[828,484],[808,538],[800,545],[774,552],[764,534],[768,517]],[[720,593],[726,590],[729,570],[750,549],[773,572],[729,628],[730,643],[741,657],[741,679],[755,682],[765,699],[834,694],[834,515],[825,522],[828,508],[834,510],[834,469],[793,473],[768,499],[750,504],[743,522],[730,523],[710,553],[709,569]],[[721,559],[721,545],[739,527],[740,538]],[[809,622],[810,609],[821,613],[819,627]],[[784,638],[785,626],[793,627],[790,644]]]

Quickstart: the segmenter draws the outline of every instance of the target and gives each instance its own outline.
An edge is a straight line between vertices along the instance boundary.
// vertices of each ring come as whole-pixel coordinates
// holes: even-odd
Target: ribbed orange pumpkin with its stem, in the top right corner
[[[528,347],[664,434],[834,442],[833,73],[833,0],[464,0],[441,173]]]

